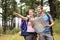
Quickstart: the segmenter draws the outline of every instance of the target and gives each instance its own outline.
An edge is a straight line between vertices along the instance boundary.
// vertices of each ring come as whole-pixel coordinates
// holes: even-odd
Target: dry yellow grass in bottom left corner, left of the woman
[[[14,35],[0,36],[0,40],[24,40],[24,38],[20,36],[19,34],[14,34]]]

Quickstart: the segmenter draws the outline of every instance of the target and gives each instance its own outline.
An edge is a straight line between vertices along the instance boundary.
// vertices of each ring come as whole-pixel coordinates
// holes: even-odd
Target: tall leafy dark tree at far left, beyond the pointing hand
[[[13,29],[14,27],[8,26],[8,21],[11,20],[11,25],[15,25],[13,23],[13,18],[14,16],[11,14],[13,11],[17,11],[16,10],[16,6],[17,3],[15,0],[1,0],[2,1],[2,9],[3,9],[3,13],[2,13],[2,26],[3,26],[3,32],[6,33],[7,29]],[[12,16],[12,17],[11,17]]]

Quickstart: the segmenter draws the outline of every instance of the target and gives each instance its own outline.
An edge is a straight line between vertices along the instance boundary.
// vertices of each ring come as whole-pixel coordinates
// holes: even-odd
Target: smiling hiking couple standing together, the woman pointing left
[[[50,27],[54,25],[52,16],[48,14],[50,17],[50,22],[51,22],[51,24],[49,24],[49,18],[47,17],[46,13],[44,13],[43,7],[41,5],[37,6],[37,12],[38,12],[39,17],[42,17],[44,21],[46,22],[46,24],[48,24],[48,25],[45,25],[45,30],[40,33],[35,32],[34,25],[30,21],[34,19],[34,9],[29,9],[29,12],[28,12],[29,17],[24,17],[16,12],[13,12],[13,15],[20,17],[21,19],[25,21],[29,20],[27,24],[27,33],[29,33],[29,35],[25,36],[24,39],[37,40],[37,35],[38,35],[39,40],[53,40],[53,36],[51,35],[51,32],[50,32]]]

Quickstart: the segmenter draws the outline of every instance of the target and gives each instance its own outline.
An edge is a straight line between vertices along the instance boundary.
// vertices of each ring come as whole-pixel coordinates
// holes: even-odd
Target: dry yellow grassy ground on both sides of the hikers
[[[60,40],[59,34],[54,34],[55,40]],[[20,36],[18,33],[14,35],[2,35],[0,36],[0,40],[24,40],[23,36]]]

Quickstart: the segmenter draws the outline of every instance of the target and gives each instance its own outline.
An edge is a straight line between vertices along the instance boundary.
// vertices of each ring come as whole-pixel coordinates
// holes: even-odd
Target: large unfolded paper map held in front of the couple
[[[34,29],[37,33],[43,32],[45,30],[45,21],[41,17],[36,17],[31,22],[34,24]]]

